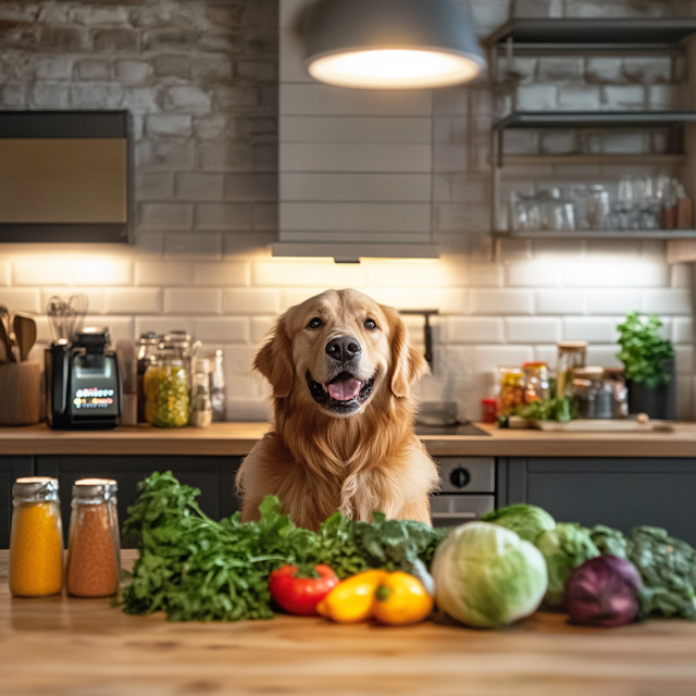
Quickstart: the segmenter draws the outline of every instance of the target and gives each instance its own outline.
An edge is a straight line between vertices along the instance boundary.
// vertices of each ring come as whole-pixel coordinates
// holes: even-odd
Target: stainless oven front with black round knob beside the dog
[[[433,526],[457,526],[495,509],[493,457],[437,457],[439,493],[431,496]]]

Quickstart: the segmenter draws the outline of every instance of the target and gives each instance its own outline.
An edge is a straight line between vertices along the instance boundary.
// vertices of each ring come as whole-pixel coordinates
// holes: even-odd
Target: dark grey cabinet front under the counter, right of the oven
[[[531,502],[623,532],[650,524],[696,546],[696,459],[500,458],[497,484],[498,507]]]

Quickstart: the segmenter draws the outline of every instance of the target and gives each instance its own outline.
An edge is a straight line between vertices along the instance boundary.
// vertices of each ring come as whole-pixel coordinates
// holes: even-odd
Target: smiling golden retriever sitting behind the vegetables
[[[274,419],[237,474],[243,520],[274,494],[307,529],[336,510],[431,523],[437,469],[410,395],[427,366],[395,309],[326,290],[278,318],[253,368],[271,383]]]

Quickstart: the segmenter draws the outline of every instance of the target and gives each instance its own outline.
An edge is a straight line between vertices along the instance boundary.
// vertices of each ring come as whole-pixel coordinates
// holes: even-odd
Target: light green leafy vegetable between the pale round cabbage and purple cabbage
[[[549,607],[563,606],[566,580],[576,566],[599,556],[589,530],[574,522],[560,522],[556,529],[542,532],[535,542],[548,568],[548,589],[544,598]]]

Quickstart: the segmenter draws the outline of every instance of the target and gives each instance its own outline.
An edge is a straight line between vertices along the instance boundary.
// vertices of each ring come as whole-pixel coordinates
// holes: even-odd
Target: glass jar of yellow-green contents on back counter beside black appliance
[[[184,360],[160,357],[146,370],[145,420],[158,427],[188,423],[188,375]]]

